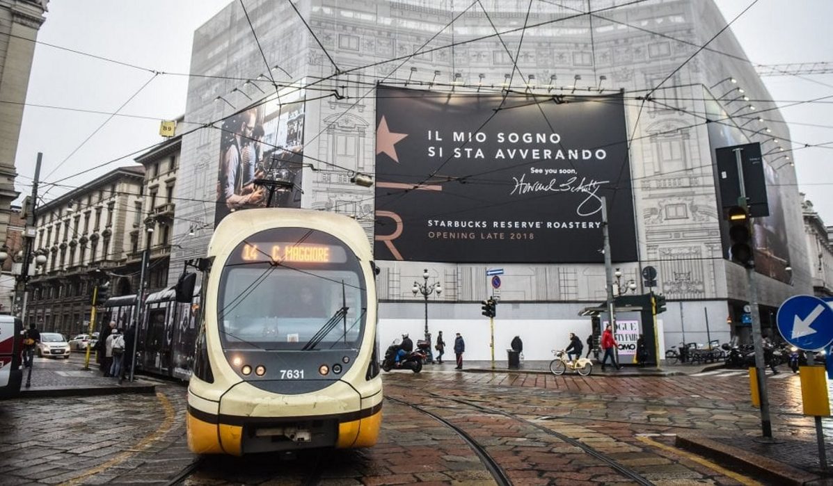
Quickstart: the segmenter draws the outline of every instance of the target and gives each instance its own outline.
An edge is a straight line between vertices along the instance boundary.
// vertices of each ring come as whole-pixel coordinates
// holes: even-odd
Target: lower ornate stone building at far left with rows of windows
[[[112,295],[137,289],[139,260],[132,236],[144,226],[143,166],[108,172],[39,206],[37,254],[47,264],[29,281],[27,320],[42,330],[74,335],[87,331],[95,285]]]

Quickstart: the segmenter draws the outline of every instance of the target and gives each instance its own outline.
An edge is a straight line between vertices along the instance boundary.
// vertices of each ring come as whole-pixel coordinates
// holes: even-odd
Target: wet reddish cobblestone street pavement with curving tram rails
[[[452,366],[385,374],[385,394],[466,430],[515,484],[632,484],[611,462],[654,484],[751,484],[744,471],[696,462],[664,435],[725,434],[729,442],[759,433],[745,375],[582,378],[459,373]],[[811,419],[801,416],[798,377],[770,384],[776,436],[813,439]],[[0,402],[0,484],[167,484],[177,478],[197,460],[184,440],[186,390],[164,382],[156,390]],[[392,400],[383,413],[372,449],[210,457],[184,484],[493,484],[452,429]],[[789,445],[785,454],[807,459],[805,449]]]

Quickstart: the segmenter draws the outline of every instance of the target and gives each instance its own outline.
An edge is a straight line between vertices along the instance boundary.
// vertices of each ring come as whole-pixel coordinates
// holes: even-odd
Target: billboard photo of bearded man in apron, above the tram
[[[303,101],[296,90],[223,121],[215,226],[232,211],[301,207]]]

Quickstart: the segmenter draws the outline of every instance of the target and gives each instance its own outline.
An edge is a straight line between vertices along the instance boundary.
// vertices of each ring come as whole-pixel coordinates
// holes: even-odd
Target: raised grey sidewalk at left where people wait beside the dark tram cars
[[[82,353],[73,353],[68,360],[35,358],[32,366],[31,386],[26,388],[28,369],[23,368],[23,385],[20,398],[62,396],[92,396],[122,393],[154,393],[155,386],[147,380],[123,381],[105,378],[91,360],[90,369],[84,369]]]

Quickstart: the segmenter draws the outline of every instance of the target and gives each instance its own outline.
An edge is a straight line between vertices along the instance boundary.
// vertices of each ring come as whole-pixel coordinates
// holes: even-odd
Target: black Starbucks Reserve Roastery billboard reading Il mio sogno
[[[625,110],[598,97],[377,89],[377,260],[636,260]]]

